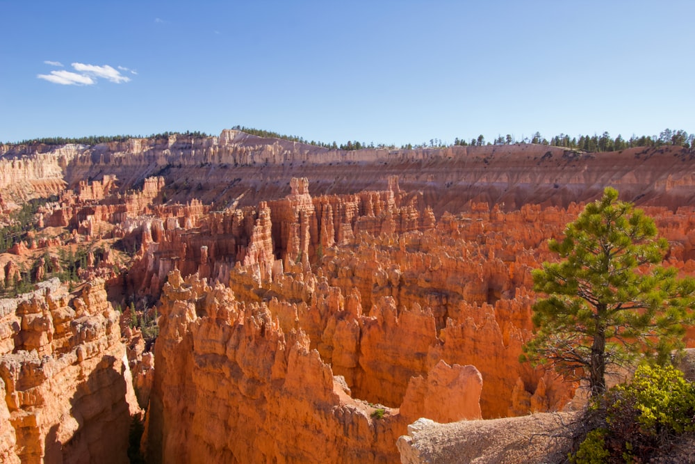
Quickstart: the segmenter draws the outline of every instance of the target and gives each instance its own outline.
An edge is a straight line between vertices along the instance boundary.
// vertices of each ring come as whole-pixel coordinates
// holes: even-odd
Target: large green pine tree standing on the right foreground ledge
[[[522,360],[550,363],[570,380],[587,380],[591,394],[606,390],[607,367],[646,355],[669,360],[693,322],[695,280],[660,264],[668,249],[654,221],[608,187],[548,248],[562,261],[533,272],[538,331]]]

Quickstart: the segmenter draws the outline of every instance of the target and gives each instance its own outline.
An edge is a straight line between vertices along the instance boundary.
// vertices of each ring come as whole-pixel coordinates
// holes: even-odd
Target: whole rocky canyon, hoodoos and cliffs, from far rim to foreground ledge
[[[420,418],[571,409],[578,385],[518,362],[530,271],[607,185],[695,273],[682,147],[345,152],[225,130],[0,153],[6,223],[54,195],[0,254],[3,288],[47,282],[0,301],[3,462],[126,462],[141,408],[152,463],[406,462]]]

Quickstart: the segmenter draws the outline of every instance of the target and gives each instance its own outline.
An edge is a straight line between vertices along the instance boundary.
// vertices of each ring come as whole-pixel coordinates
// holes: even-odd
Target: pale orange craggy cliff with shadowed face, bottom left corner
[[[127,463],[138,412],[104,282],[73,297],[56,280],[0,301],[3,463]]]

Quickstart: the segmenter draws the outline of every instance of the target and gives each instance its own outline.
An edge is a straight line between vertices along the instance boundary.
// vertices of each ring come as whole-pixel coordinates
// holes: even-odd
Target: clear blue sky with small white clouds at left
[[[0,141],[695,131],[695,1],[3,1]]]

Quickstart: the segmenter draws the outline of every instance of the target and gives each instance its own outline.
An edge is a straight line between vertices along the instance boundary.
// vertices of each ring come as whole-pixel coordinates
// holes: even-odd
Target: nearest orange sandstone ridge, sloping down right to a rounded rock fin
[[[434,413],[440,420],[480,417],[480,374],[472,366],[437,365],[432,376],[441,383],[418,383],[403,406],[416,415],[407,416],[353,399],[309,337],[284,333],[263,303],[238,301],[231,289],[195,275],[181,280],[178,271],[161,301],[147,413],[152,462],[395,462],[406,424],[441,409],[427,405],[428,394],[459,397]]]

